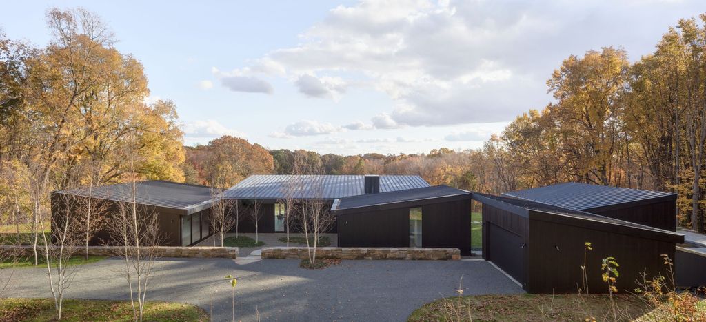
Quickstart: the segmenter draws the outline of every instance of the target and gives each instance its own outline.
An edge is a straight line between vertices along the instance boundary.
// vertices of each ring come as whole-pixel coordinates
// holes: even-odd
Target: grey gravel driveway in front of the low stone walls
[[[231,318],[234,275],[236,314],[253,321],[405,321],[426,302],[455,295],[461,275],[465,294],[510,294],[522,289],[485,261],[342,261],[323,270],[299,268],[296,260],[268,259],[237,265],[225,258],[163,258],[155,265],[148,299],[186,302],[213,321]],[[67,297],[128,299],[124,262],[109,258],[76,267]],[[0,270],[4,278],[10,270]],[[15,269],[8,297],[51,297],[44,270]]]

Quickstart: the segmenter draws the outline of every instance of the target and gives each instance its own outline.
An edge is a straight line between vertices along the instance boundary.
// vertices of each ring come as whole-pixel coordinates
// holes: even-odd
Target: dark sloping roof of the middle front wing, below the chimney
[[[444,185],[427,186],[417,189],[340,198],[334,201],[331,210],[335,211],[337,214],[342,214],[344,212],[348,213],[351,210],[364,210],[369,208],[397,208],[407,204],[422,205],[434,203],[440,198],[453,198],[453,200],[468,199],[468,201],[470,201],[471,193]]]

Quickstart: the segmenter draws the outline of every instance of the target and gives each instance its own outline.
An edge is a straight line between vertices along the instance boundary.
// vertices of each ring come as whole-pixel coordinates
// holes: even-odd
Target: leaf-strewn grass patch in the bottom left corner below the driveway
[[[0,321],[54,321],[53,299],[0,299]],[[62,321],[132,321],[129,301],[64,299]],[[172,302],[147,302],[144,321],[208,321],[198,306]]]

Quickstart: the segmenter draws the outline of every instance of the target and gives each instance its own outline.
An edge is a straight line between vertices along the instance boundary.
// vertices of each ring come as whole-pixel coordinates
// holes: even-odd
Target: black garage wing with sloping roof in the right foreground
[[[583,197],[592,198],[574,196],[579,204]],[[526,198],[473,193],[473,199],[482,204],[483,258],[530,293],[586,292],[582,266],[588,292],[607,292],[601,261],[609,256],[620,265],[618,291],[630,292],[640,273],[665,275],[662,254],[674,258],[676,244],[684,241],[670,230]],[[592,250],[585,249],[587,242]]]

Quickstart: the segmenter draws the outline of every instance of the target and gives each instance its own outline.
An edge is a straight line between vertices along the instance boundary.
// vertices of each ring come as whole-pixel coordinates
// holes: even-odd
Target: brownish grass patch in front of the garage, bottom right
[[[639,318],[648,311],[647,305],[633,294],[614,296],[618,311],[624,314],[623,321]],[[479,295],[424,304],[412,312],[409,321],[603,321],[609,307],[607,295]]]

